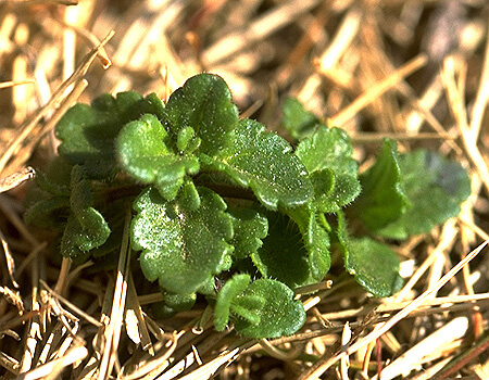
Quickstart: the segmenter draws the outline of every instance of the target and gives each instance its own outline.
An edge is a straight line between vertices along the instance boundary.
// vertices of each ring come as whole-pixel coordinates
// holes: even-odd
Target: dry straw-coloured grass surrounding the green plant
[[[488,20],[486,0],[0,1],[0,373],[489,379]],[[271,129],[298,97],[351,134],[361,162],[385,136],[439,150],[469,169],[472,197],[396,248],[406,283],[391,299],[331,273],[303,300],[306,326],[271,342],[217,333],[204,311],[153,320],[161,296],[135,286],[126,249],[105,274],[50,261],[49,237],[22,221],[21,183],[54,154],[52,128],[75,100],[166,98],[202,71]]]

